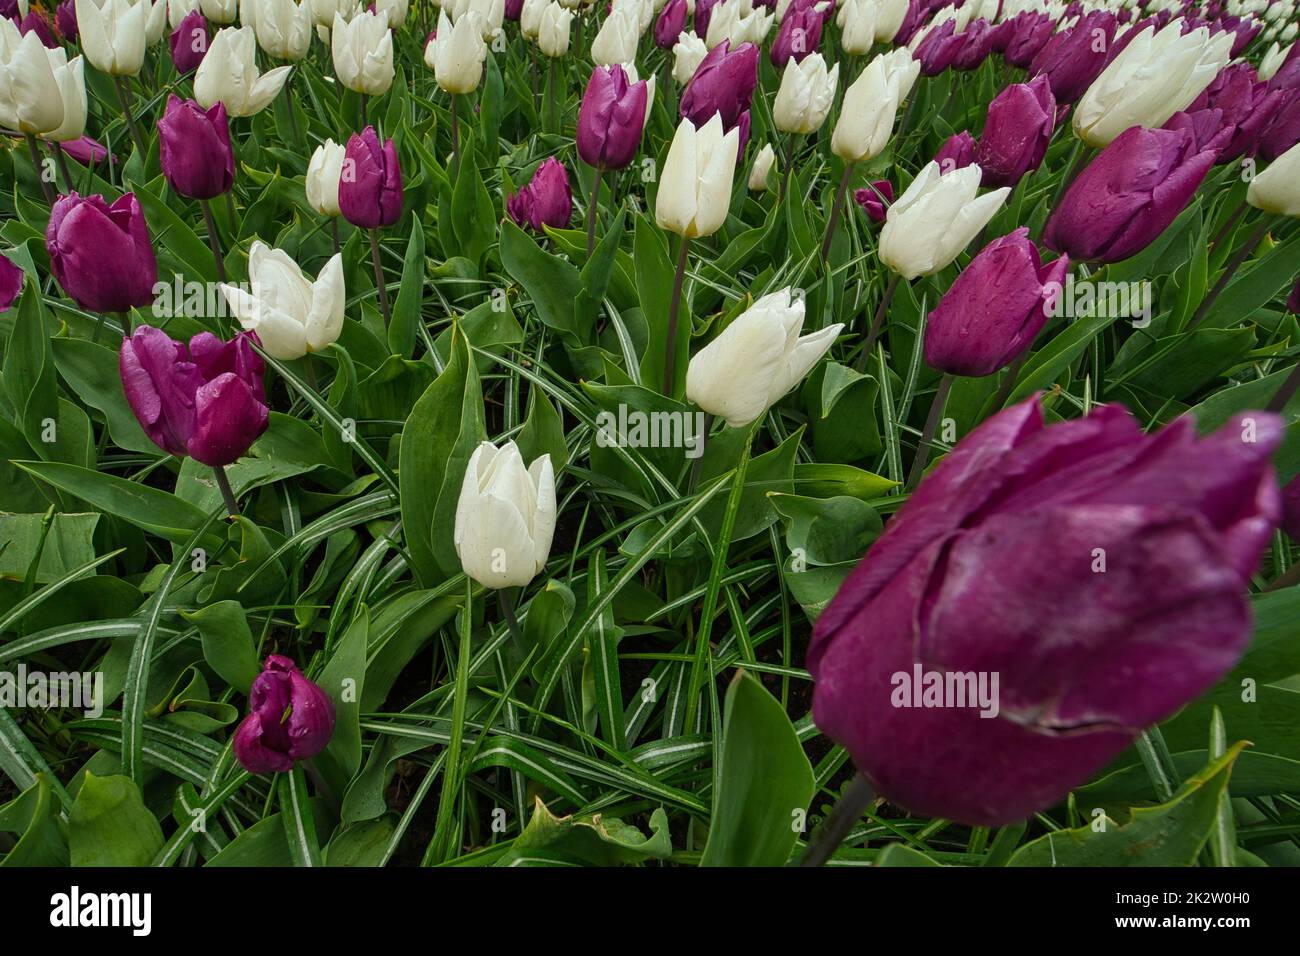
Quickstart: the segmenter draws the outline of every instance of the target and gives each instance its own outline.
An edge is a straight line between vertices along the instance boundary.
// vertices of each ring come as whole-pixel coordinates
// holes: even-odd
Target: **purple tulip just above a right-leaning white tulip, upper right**
[[[983,185],[1014,186],[1037,169],[1056,130],[1056,96],[1041,74],[994,96],[975,152]]]

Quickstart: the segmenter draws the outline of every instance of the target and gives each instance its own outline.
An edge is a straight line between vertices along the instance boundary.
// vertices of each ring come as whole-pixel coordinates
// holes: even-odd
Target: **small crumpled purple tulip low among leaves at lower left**
[[[287,773],[325,749],[334,704],[290,658],[270,654],[248,691],[248,715],[230,748],[250,774]]]

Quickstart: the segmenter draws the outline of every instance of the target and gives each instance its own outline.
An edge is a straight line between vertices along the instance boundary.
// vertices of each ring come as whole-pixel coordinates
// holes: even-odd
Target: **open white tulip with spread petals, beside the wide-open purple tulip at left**
[[[315,282],[286,252],[261,239],[248,252],[252,293],[221,284],[230,312],[257,333],[261,347],[277,359],[300,359],[338,339],[343,330],[343,255],[335,252]]]

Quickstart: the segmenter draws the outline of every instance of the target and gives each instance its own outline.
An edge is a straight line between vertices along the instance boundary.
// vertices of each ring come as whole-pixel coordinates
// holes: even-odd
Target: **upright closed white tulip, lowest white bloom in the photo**
[[[454,544],[464,572],[485,588],[528,584],[546,567],[555,511],[550,455],[525,468],[515,442],[481,442],[456,502]]]

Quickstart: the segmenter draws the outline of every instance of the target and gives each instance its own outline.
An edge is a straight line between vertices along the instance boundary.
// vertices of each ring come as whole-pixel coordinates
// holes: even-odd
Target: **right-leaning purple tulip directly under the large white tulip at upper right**
[[[1134,126],[1089,163],[1052,209],[1044,245],[1083,261],[1136,255],[1183,211],[1218,155],[1188,130]]]

